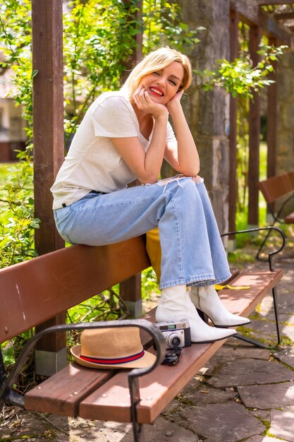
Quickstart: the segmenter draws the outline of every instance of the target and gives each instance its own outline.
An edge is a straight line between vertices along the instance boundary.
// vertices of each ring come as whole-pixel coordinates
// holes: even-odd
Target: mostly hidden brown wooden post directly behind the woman
[[[130,6],[130,0],[124,0],[125,7],[128,8]],[[130,16],[131,18],[131,16]],[[140,20],[142,18],[142,0],[137,2],[137,11],[135,13],[135,19]],[[125,73],[123,73],[121,77],[121,81],[126,80],[128,76],[128,71],[133,68],[133,64],[135,61],[142,57],[142,31],[138,32],[135,37],[135,42],[137,44],[137,48],[133,52],[132,56],[128,57],[125,63]],[[133,185],[137,185],[137,183],[133,183]],[[137,275],[130,277],[128,280],[121,282],[119,285],[119,293],[123,300],[125,301],[125,305],[128,307],[131,315],[134,318],[141,316],[142,314],[142,297],[141,297],[141,273],[137,273]]]

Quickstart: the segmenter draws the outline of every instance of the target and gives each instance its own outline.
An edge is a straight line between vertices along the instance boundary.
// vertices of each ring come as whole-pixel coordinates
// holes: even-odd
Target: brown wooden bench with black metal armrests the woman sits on
[[[283,232],[281,235],[284,245]],[[271,256],[278,251],[272,252]],[[276,284],[281,280],[282,270],[272,269],[271,256],[270,270],[243,270],[232,277],[230,285],[250,285],[250,289],[221,290],[221,299],[233,313],[249,315],[269,290],[272,290],[276,304]],[[71,246],[1,269],[0,342],[6,342],[147,267],[149,258],[145,251],[145,238],[137,237],[110,246]],[[154,311],[149,311],[144,319],[56,325],[42,330],[27,343],[8,376],[0,360],[0,405],[8,402],[25,410],[133,422],[134,440],[142,441],[142,424],[152,423],[225,342],[192,344],[183,349],[179,364],[162,365],[165,342],[152,324]],[[279,340],[277,316],[276,323]],[[72,363],[24,396],[13,390],[27,352],[45,334],[126,325],[142,329],[145,349],[155,352],[155,345],[157,361],[150,369],[99,370]],[[247,340],[241,335],[238,338]]]

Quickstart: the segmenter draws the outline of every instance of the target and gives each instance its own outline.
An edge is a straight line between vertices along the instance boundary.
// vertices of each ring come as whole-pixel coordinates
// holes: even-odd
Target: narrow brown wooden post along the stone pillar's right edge
[[[230,42],[231,42],[231,61],[238,57],[238,23],[239,15],[236,11],[230,12]],[[228,229],[229,232],[235,232],[235,215],[237,206],[237,98],[230,97],[230,131],[228,142],[230,148],[230,169],[228,179]],[[235,235],[228,239],[228,249],[235,249]]]

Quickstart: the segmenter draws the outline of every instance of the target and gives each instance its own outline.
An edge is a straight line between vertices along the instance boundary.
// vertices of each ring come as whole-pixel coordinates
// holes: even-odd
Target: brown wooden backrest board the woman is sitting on
[[[0,270],[0,342],[149,267],[145,238],[71,246]]]

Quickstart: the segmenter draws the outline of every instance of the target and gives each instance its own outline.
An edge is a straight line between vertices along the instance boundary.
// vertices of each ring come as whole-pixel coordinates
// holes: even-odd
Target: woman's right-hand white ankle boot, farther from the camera
[[[214,323],[215,327],[238,327],[250,323],[250,319],[234,315],[221,303],[214,285],[190,287],[190,299],[196,309],[202,310]]]

